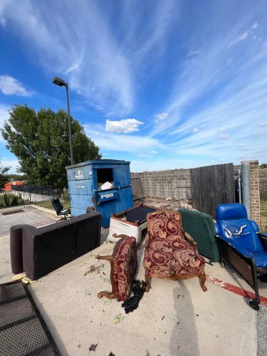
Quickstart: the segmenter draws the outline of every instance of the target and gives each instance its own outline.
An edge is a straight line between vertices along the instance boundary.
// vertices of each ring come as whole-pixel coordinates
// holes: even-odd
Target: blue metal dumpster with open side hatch
[[[70,213],[78,216],[94,206],[102,214],[102,225],[110,225],[110,215],[129,209],[132,204],[130,162],[115,159],[87,161],[66,167]],[[110,182],[109,189],[100,189]]]

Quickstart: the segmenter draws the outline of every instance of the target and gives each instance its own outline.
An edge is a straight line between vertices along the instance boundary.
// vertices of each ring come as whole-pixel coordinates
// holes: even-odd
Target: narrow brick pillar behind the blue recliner
[[[249,161],[251,175],[251,220],[258,226],[261,222],[260,184],[258,177],[258,161]]]

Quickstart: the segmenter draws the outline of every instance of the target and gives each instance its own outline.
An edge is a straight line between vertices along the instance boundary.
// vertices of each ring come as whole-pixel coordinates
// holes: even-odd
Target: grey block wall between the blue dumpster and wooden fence
[[[174,199],[192,199],[190,169],[131,173],[131,176],[140,177],[145,194],[150,198],[172,198],[174,194]]]

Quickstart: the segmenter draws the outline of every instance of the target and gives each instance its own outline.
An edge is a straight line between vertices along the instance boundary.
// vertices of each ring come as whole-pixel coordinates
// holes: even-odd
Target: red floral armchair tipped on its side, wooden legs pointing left
[[[112,286],[111,292],[99,292],[98,298],[105,296],[108,299],[117,298],[117,300],[125,301],[130,296],[137,268],[136,239],[127,235],[114,234],[113,236],[120,241],[115,244],[112,255],[95,256],[95,258],[110,262]]]

